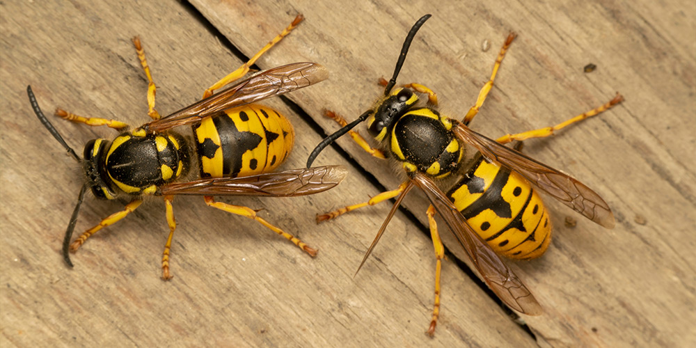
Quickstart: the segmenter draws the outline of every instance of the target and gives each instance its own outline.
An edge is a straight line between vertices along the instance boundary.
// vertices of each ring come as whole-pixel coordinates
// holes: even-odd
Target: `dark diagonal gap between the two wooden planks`
[[[209,22],[209,20],[202,13],[200,13],[200,11],[195,6],[193,6],[189,1],[182,1],[181,3],[184,6],[184,8],[186,8],[189,11],[193,19],[196,19],[196,21],[198,21],[209,33],[211,33],[215,38],[217,38],[220,44],[230,51],[230,54],[239,58],[240,61],[246,62],[249,60],[249,57],[242,53],[242,51],[239,50],[234,44],[232,44],[232,42],[228,40],[228,38],[225,35],[223,35],[223,33],[221,33],[221,31],[219,31],[219,29],[217,29],[216,26]],[[262,70],[256,64],[251,65],[250,68],[251,70]],[[297,114],[297,116],[299,116],[304,122],[306,122],[314,130],[315,133],[319,134],[319,136],[322,136],[322,138],[329,136],[329,134],[326,134],[326,132],[324,132],[324,129],[311,116],[309,116],[309,114],[304,109],[302,109],[301,106],[299,106],[289,98],[285,97],[285,95],[280,95],[278,96],[278,98],[283,102],[283,104],[288,106],[294,113]],[[367,181],[370,182],[370,184],[372,184],[373,187],[375,187],[377,190],[381,192],[388,190],[379,182],[379,180],[377,180],[376,177],[374,177],[374,175],[372,175],[372,173],[366,171],[365,168],[358,164],[358,161],[351,157],[348,154],[348,152],[343,150],[337,143],[331,143],[331,147],[333,148],[333,150],[338,152],[338,155],[343,157],[343,159],[345,159],[346,161],[348,161],[349,164],[351,164],[351,166],[353,167],[353,171],[357,171],[360,175],[365,177]],[[396,199],[391,198],[389,201],[390,203],[394,204]],[[409,209],[406,209],[406,207],[404,207],[403,205],[399,207],[399,210],[404,215],[406,215],[409,221],[413,223],[413,226],[418,228],[418,230],[420,230],[420,232],[423,235],[425,235],[428,240],[432,241],[429,228],[424,226],[420,222],[420,220],[416,218],[413,212],[411,212]],[[447,246],[445,246],[445,257],[448,258],[448,260],[454,262],[457,268],[463,271],[464,274],[468,276],[468,278],[473,280],[473,282],[478,287],[480,287],[480,289],[483,290],[483,292],[485,292],[495,303],[497,303],[498,306],[500,306],[500,308],[503,309],[503,311],[512,320],[512,322],[520,326],[521,329],[528,333],[528,335],[530,335],[532,339],[537,341],[537,336],[532,331],[532,329],[530,329],[530,327],[526,324],[526,322],[524,322],[524,320],[521,319],[521,317],[513,310],[507,308],[507,306],[503,304],[503,301],[500,301],[500,299],[498,299],[498,296],[496,296],[496,294],[493,293],[493,290],[491,290],[488,287],[488,285],[484,283],[483,280],[478,278],[478,276],[476,276],[476,274],[468,267],[468,265],[464,261],[459,260],[459,258],[452,254],[447,248]]]

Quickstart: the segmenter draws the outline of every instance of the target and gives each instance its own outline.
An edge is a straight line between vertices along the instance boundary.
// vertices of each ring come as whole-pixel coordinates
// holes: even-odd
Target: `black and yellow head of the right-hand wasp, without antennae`
[[[367,132],[377,141],[382,141],[387,129],[390,129],[395,120],[403,116],[416,102],[418,96],[409,88],[396,88],[379,103],[372,116],[367,119]]]

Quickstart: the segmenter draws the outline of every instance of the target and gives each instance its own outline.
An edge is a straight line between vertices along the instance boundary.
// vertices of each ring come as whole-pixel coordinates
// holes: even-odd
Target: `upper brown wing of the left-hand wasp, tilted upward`
[[[220,93],[191,104],[169,116],[147,123],[145,129],[163,132],[181,125],[190,125],[226,109],[258,102],[292,90],[307,87],[329,77],[324,66],[317,63],[292,63],[253,74]]]

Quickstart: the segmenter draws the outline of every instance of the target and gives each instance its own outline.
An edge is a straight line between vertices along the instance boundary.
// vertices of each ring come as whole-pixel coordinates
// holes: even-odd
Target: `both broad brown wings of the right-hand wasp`
[[[560,200],[599,225],[606,228],[614,226],[614,215],[607,203],[585,184],[535,161],[521,152],[507,148],[493,139],[478,134],[457,120],[452,120],[452,122],[457,138],[472,145],[487,159],[496,161],[509,170],[519,173],[541,191]],[[411,173],[409,176],[411,183],[422,189],[438,215],[443,218],[491,290],[507,306],[520,313],[541,314],[543,310],[539,302],[522,283],[522,280],[500,259],[498,254],[491,250],[488,244],[482,241],[433,180],[420,172]]]

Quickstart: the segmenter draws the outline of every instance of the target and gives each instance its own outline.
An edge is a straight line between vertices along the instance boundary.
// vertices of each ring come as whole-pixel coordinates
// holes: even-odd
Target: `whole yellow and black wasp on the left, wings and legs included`
[[[292,149],[294,131],[290,122],[278,111],[252,104],[268,97],[316,84],[328,77],[326,69],[316,63],[292,63],[253,74],[220,93],[212,94],[243,77],[249,67],[268,49],[301,22],[298,15],[292,24],[264,46],[248,62],[205,91],[203,100],[166,117],[155,110],[155,83],[145,60],[139,38],[133,43],[143,70],[148,77],[148,115],[151,122],[116,136],[113,141],[95,139],[84,148],[80,158],[58,134],[36,102],[31,86],[29,100],[36,116],[68,153],[84,169],[86,182],[80,190],[68,230],[63,241],[63,258],[70,267],[68,250],[77,251],[86,239],[133,212],[144,196],[164,196],[169,237],[162,256],[162,278],[171,278],[169,251],[176,223],[172,208],[175,195],[205,196],[205,204],[232,214],[260,222],[290,240],[309,255],[317,251],[296,237],[258,216],[248,207],[216,202],[212,196],[303,196],[335,187],[347,171],[340,166],[324,166],[311,170],[296,169],[270,173]],[[127,128],[123,122],[104,118],[85,118],[58,109],[57,116],[86,125],[107,125]],[[184,136],[171,129],[191,125],[192,134]],[[184,129],[187,130],[187,129]],[[198,166],[200,175],[188,173]],[[191,171],[194,172],[194,171]],[[84,193],[91,189],[95,197],[114,199],[130,196],[132,200],[120,212],[106,217],[70,243]]]

